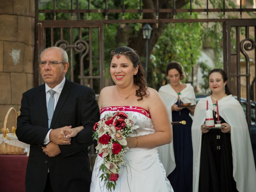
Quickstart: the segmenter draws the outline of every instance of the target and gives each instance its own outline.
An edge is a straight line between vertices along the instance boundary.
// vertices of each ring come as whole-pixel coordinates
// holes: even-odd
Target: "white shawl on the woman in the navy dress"
[[[170,84],[160,87],[158,92],[164,100],[164,104],[166,105],[169,113],[170,121],[172,122],[172,106],[178,101],[178,94],[174,91]],[[180,92],[180,100],[183,103],[191,103],[191,105],[196,104],[196,96],[194,93],[194,88],[191,84],[186,84],[186,88]],[[173,142],[158,147],[158,153],[164,169],[166,170],[166,176],[168,176],[176,167]]]

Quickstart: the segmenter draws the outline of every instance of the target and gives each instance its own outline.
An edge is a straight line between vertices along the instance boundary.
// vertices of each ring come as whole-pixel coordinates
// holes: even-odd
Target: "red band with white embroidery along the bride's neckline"
[[[133,111],[144,114],[148,118],[151,118],[150,112],[148,110],[137,106],[107,106],[100,110],[100,114],[102,114],[104,111]]]

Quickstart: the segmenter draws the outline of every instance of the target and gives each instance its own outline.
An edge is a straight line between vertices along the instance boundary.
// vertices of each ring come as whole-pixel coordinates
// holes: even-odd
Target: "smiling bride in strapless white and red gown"
[[[114,192],[172,192],[164,167],[159,160],[157,146],[170,143],[172,129],[168,112],[158,92],[146,87],[140,58],[129,47],[111,52],[110,74],[116,85],[101,90],[99,107],[101,118],[106,113],[132,113],[139,126],[126,138],[129,150],[124,155]],[[90,192],[105,192],[99,173],[103,159],[97,156],[92,172]]]

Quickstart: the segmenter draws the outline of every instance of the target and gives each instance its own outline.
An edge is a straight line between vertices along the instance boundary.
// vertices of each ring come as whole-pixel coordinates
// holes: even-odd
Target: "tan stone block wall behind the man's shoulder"
[[[0,128],[34,86],[34,0],[0,0]]]

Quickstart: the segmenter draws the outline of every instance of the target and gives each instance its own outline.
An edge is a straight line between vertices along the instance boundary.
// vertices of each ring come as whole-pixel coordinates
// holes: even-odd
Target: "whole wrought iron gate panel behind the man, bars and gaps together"
[[[37,27],[37,57],[39,58],[40,52],[47,47],[63,48],[69,55],[70,69],[68,74],[70,80],[89,86],[98,94],[104,86],[103,24],[100,22],[54,20],[38,22]],[[97,47],[96,50],[95,46]],[[76,75],[74,75],[75,65],[80,66],[79,73]],[[39,76],[39,84],[41,82]]]

